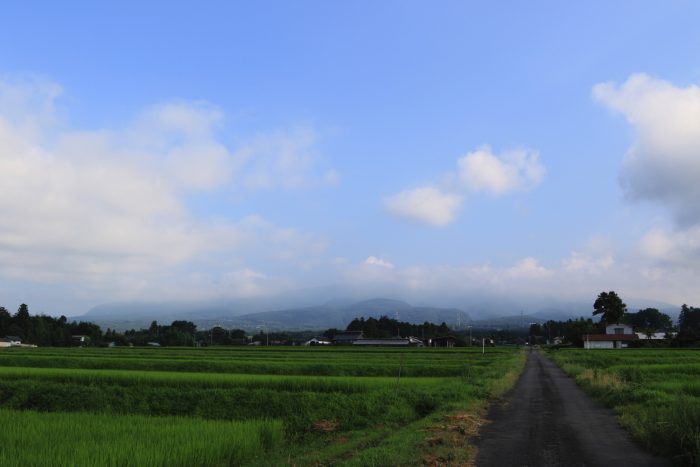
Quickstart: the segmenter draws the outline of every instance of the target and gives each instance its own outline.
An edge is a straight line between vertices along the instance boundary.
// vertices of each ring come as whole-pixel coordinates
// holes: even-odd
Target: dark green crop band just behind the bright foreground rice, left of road
[[[481,384],[459,379],[441,384],[386,381],[364,392],[285,391],[246,386],[117,385],[79,379],[0,379],[0,406],[40,411],[93,411],[114,414],[177,415],[222,420],[278,418],[289,435],[307,437],[318,420],[338,420],[338,429],[373,423],[403,424],[454,400],[483,397]]]

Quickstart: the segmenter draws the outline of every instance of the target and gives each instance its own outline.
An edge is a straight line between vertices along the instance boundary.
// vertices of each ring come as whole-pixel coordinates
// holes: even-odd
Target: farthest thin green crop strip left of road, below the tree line
[[[494,360],[508,359],[509,354],[491,352],[487,358],[477,352],[438,353],[432,349],[417,352],[299,352],[235,351],[227,358],[207,359],[205,353],[195,352],[200,358],[167,358],[170,349],[141,350],[139,357],[128,355],[129,349],[97,349],[90,354],[53,351],[51,353],[0,351],[0,367],[85,368],[121,369],[141,371],[177,371],[204,373],[249,373],[267,375],[319,375],[319,376],[461,376],[465,368],[490,366]],[[165,355],[161,354],[165,350]],[[195,349],[192,349],[193,351]],[[338,358],[338,357],[342,358]]]

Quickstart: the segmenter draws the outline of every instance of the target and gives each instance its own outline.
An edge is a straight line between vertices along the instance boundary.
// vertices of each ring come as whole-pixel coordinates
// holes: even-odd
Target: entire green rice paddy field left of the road
[[[523,362],[515,348],[2,349],[0,465],[421,465],[431,429],[477,414]]]

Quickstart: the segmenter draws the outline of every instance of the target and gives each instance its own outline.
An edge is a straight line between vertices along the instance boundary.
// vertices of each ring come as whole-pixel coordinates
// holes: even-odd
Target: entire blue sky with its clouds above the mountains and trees
[[[0,304],[700,302],[697,2],[172,3],[4,5]]]

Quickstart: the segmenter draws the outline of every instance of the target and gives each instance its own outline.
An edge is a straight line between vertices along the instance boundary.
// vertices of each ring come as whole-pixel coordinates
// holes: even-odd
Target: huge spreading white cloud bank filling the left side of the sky
[[[216,293],[252,293],[279,283],[250,273],[244,259],[255,252],[289,262],[325,248],[260,218],[198,218],[187,206],[191,193],[251,178],[291,188],[315,176],[312,130],[259,136],[232,152],[217,139],[219,110],[179,101],[125,129],[74,131],[56,116],[59,95],[43,81],[0,81],[0,277],[99,290],[102,300],[167,298],[196,294],[182,280],[202,267],[219,270]],[[231,287],[222,279],[230,271],[258,285]]]

